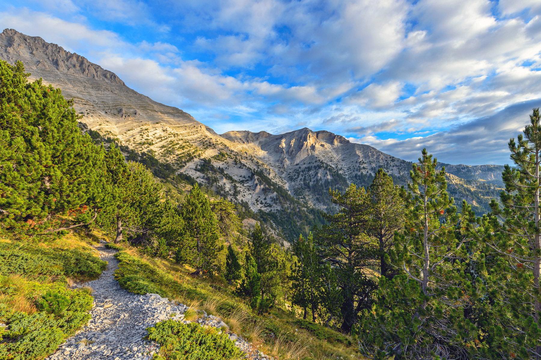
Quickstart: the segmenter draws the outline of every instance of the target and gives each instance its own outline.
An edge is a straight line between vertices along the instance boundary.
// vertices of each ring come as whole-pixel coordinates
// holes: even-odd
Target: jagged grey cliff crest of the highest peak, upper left
[[[14,29],[5,29],[0,33],[0,53],[8,62],[21,60],[33,75],[42,76],[43,72],[56,70],[124,85],[115,73],[89,62],[87,58],[48,43],[41,37],[24,35]]]

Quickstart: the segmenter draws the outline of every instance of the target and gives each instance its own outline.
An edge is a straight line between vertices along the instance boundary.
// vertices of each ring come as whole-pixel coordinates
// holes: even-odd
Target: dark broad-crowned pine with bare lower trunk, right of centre
[[[344,194],[329,191],[337,214],[327,214],[329,225],[318,232],[317,241],[323,261],[336,266],[338,286],[342,290],[342,330],[350,332],[358,313],[370,307],[375,281],[367,276],[372,263],[373,244],[367,235],[370,223],[370,198],[364,188],[351,184]]]

